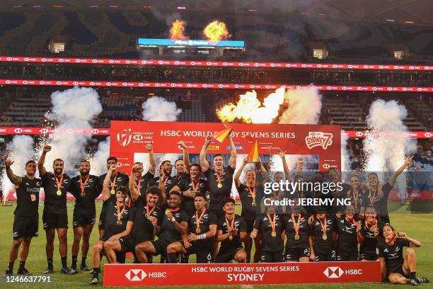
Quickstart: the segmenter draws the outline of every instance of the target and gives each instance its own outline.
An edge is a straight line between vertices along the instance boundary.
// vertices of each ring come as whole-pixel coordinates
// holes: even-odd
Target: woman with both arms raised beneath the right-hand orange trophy
[[[251,259],[251,249],[253,247],[253,239],[251,239],[250,234],[253,232],[253,226],[256,215],[256,208],[260,206],[260,200],[263,195],[263,184],[269,181],[269,175],[265,167],[263,166],[260,159],[257,159],[257,164],[260,166],[260,172],[262,174],[262,184],[258,186],[257,177],[255,169],[248,169],[246,171],[246,184],[241,183],[241,174],[246,164],[250,162],[248,158],[243,159],[243,163],[241,168],[238,169],[236,175],[234,176],[234,181],[236,185],[236,189],[238,190],[239,196],[241,197],[242,204],[242,212],[241,216],[243,220],[246,222],[246,231],[247,237],[244,240],[245,242],[245,251],[247,254],[247,263],[250,263]],[[254,262],[257,263],[260,258],[260,234],[258,234],[254,239],[255,253],[254,253]]]

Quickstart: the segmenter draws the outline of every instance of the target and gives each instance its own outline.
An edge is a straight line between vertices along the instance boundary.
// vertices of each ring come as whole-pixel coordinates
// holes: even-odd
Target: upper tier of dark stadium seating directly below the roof
[[[363,62],[391,59],[388,43],[405,43],[414,55],[433,52],[433,31],[422,26],[337,21],[326,17],[178,12],[185,34],[201,39],[203,28],[217,18],[233,40],[245,40],[246,55],[257,60],[307,58],[308,42],[325,42],[332,57]],[[1,55],[47,55],[47,43],[58,35],[71,40],[64,56],[139,58],[137,38],[168,38],[171,13],[151,11],[32,11],[0,12]],[[372,58],[371,58],[372,57]]]

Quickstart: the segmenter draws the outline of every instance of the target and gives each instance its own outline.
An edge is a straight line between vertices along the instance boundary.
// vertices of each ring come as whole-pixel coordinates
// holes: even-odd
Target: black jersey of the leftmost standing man
[[[27,176],[23,176],[23,182],[16,189],[16,209],[13,212],[15,215],[21,217],[37,215],[41,186],[40,179],[28,179]]]

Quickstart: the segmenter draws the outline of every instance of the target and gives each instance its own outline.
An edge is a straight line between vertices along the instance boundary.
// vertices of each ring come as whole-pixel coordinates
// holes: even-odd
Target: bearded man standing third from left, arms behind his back
[[[81,237],[81,266],[82,271],[90,271],[86,265],[86,257],[89,247],[89,239],[96,220],[95,199],[100,195],[102,188],[97,176],[90,174],[91,165],[88,161],[81,161],[79,175],[71,179],[69,192],[75,197],[74,206],[74,244],[72,244],[72,273],[78,273],[76,269],[77,256],[80,250]]]

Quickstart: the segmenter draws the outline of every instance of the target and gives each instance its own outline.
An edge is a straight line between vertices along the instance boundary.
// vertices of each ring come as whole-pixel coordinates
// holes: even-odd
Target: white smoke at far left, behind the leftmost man
[[[11,169],[16,176],[25,175],[25,163],[35,156],[33,137],[30,135],[16,135],[11,142],[6,145],[6,149],[10,152],[8,159],[13,161]],[[4,200],[8,198],[8,193],[14,189],[13,183],[6,176],[6,171],[2,174],[1,189],[4,192]]]

